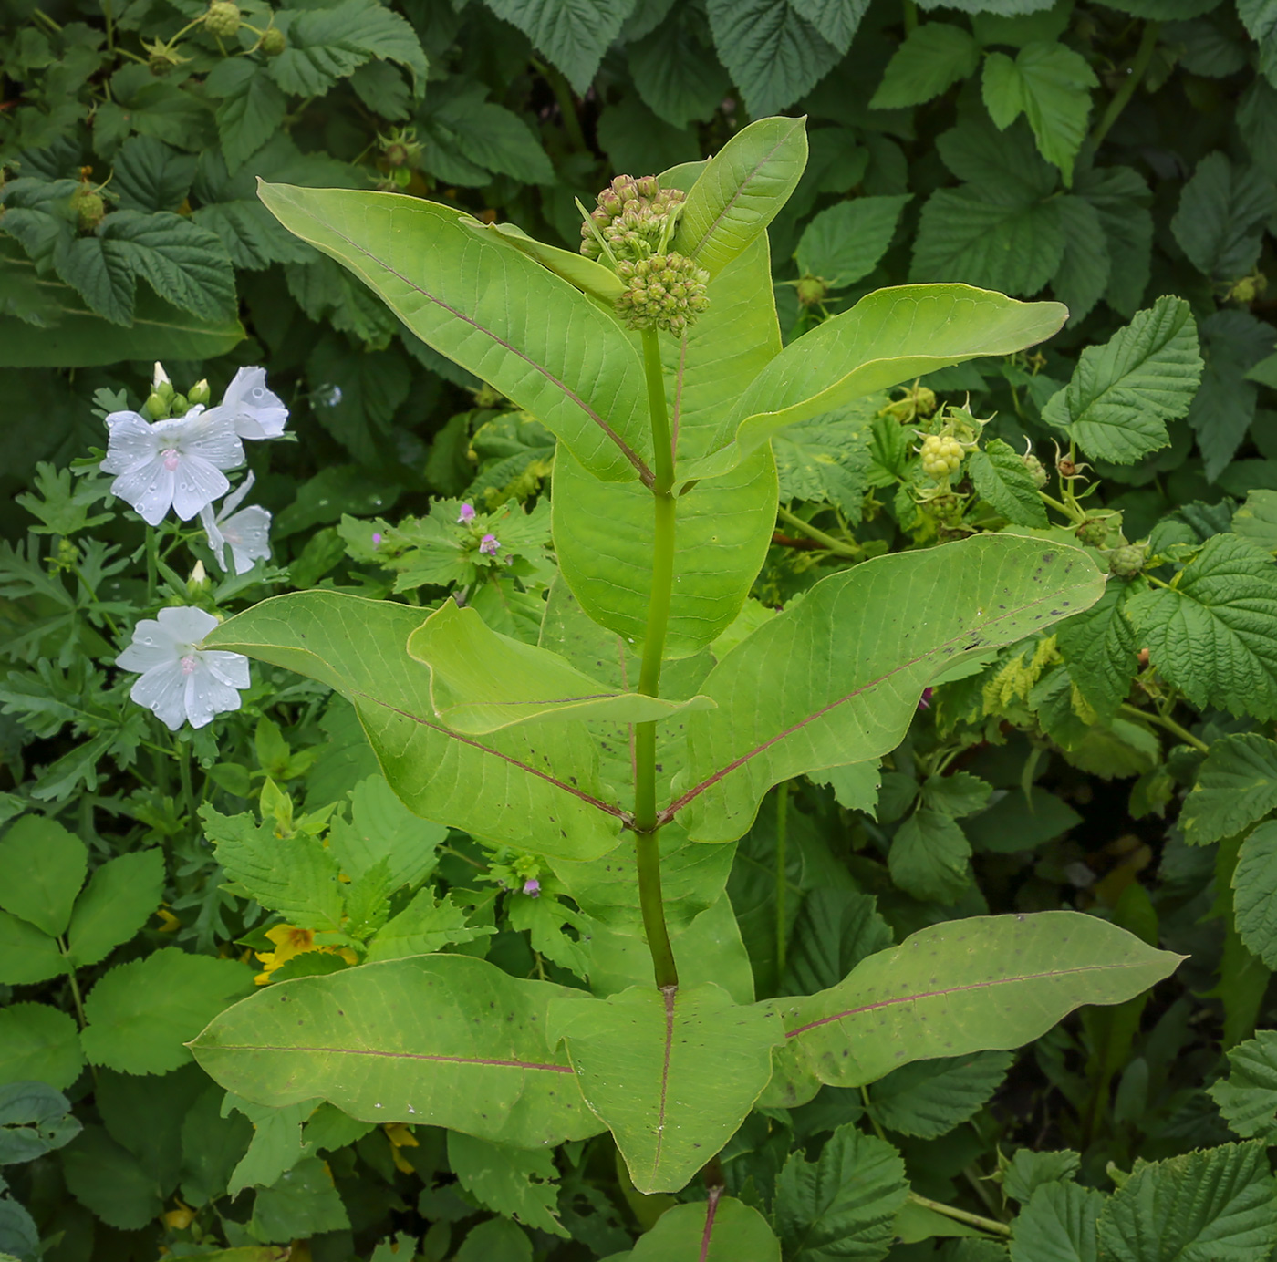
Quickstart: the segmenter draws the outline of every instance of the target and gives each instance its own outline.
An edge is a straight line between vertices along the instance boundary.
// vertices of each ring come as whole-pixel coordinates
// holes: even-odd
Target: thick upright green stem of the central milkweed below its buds
[[[651,595],[647,601],[647,629],[644,635],[638,692],[660,695],[660,665],[665,655],[665,629],[669,625],[669,600],[674,588],[674,453],[665,410],[665,379],[660,367],[660,345],[655,329],[642,334],[644,369],[647,374],[647,406],[651,411],[654,531],[651,556]],[[638,864],[638,905],[642,910],[647,949],[660,989],[678,985],[674,951],[665,925],[665,906],[660,892],[660,828],[656,823],[656,725],[635,725],[635,855]]]

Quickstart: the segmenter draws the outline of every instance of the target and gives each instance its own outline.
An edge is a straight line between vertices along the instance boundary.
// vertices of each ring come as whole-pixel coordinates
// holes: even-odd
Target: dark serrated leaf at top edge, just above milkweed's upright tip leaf
[[[815,87],[842,54],[789,0],[709,0],[714,46],[756,119]]]

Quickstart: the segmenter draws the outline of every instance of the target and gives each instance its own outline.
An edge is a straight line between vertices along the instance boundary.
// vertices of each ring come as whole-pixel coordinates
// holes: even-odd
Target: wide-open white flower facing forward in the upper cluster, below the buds
[[[230,490],[223,468],[244,463],[244,444],[221,408],[193,407],[185,416],[148,421],[137,412],[112,412],[103,473],[117,473],[111,494],[128,500],[149,526],[170,507],[190,521]]]

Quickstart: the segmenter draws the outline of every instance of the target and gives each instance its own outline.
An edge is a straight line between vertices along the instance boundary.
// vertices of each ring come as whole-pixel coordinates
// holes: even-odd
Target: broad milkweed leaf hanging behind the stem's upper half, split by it
[[[739,614],[771,544],[775,504],[775,462],[766,449],[678,496],[667,656],[700,652]],[[600,482],[561,450],[550,508],[563,581],[590,618],[641,646],[651,595],[651,494],[638,482]]]

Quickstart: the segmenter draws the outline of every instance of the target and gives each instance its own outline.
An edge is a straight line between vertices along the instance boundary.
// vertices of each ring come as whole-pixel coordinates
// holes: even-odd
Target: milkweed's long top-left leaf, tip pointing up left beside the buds
[[[645,467],[638,352],[567,281],[420,198],[271,184],[261,197],[421,341],[531,412],[596,477],[623,481]]]

